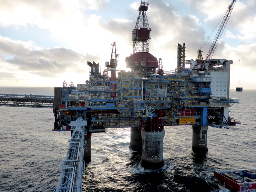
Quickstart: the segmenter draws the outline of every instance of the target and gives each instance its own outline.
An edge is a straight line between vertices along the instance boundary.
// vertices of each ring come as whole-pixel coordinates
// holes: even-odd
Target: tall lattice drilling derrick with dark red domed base
[[[156,73],[158,60],[149,53],[150,31],[146,11],[148,2],[140,2],[139,16],[132,31],[133,54],[126,58],[126,67],[134,69],[140,74]]]

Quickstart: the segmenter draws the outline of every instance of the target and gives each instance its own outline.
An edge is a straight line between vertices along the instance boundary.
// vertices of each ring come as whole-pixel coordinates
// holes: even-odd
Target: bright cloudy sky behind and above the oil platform
[[[110,60],[113,42],[118,69],[133,52],[132,30],[140,1],[0,0],[0,86],[61,87],[89,79],[87,61]],[[143,1],[144,2],[144,1]],[[164,71],[177,67],[177,44],[186,59],[206,57],[232,0],[149,0],[149,52]],[[237,0],[213,54],[233,60],[230,89],[256,89],[256,1]],[[214,31],[214,28],[217,29]]]

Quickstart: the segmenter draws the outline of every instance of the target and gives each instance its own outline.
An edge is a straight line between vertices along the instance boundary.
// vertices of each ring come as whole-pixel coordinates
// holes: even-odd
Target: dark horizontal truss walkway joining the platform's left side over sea
[[[54,108],[54,96],[0,94],[0,106]]]

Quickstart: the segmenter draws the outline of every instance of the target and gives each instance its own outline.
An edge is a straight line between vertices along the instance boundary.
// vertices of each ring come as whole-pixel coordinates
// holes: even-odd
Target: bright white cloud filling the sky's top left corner
[[[37,25],[39,28],[57,28],[81,22],[88,10],[105,7],[110,0],[33,0],[3,1],[0,7],[0,26]]]

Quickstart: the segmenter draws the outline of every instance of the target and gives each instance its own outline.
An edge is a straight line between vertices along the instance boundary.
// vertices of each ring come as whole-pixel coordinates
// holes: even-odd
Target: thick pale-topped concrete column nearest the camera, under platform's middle
[[[164,166],[163,146],[165,130],[145,132],[142,135],[142,159],[140,164],[146,169],[159,169]]]

